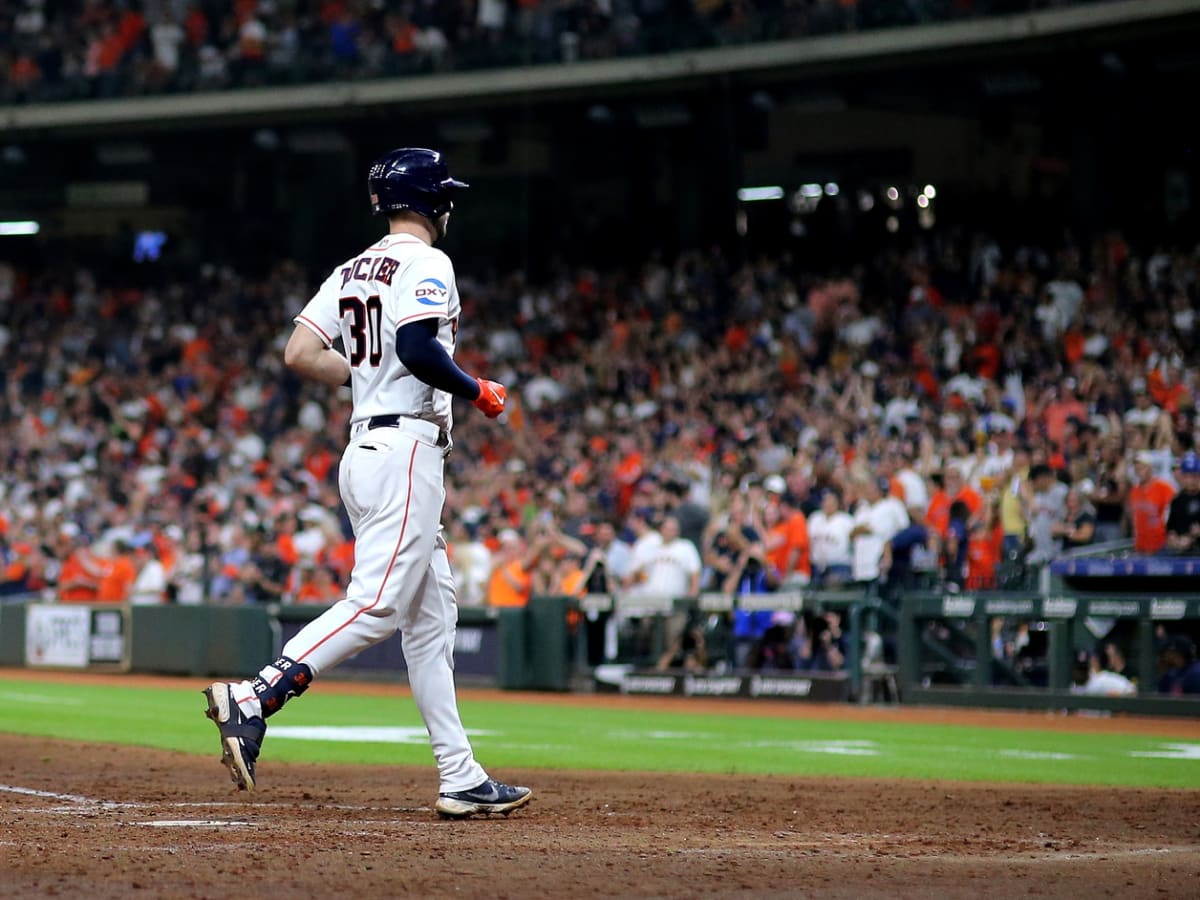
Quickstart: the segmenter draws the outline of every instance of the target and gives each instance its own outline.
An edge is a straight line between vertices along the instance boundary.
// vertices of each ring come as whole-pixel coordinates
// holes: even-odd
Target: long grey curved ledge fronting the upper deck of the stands
[[[7,138],[19,138],[314,118],[329,121],[392,107],[437,108],[451,102],[461,112],[464,104],[494,108],[606,92],[695,89],[730,76],[752,84],[756,78],[886,71],[920,60],[936,60],[938,65],[985,61],[995,58],[1000,48],[1009,54],[1103,47],[1115,38],[1162,34],[1164,26],[1200,28],[1200,0],[1117,0],[970,22],[569,65],[14,106],[0,110],[0,131]]]

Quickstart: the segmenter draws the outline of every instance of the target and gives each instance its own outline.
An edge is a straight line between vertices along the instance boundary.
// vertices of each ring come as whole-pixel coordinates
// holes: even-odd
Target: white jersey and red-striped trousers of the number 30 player
[[[335,269],[295,317],[326,346],[341,335],[350,361],[354,412],[338,488],[355,544],[346,598],[283,648],[316,677],[398,630],[442,792],[487,779],[458,716],[454,684],[458,617],[440,524],[450,395],[413,376],[395,343],[401,325],[437,319],[438,341],[452,356],[458,312],[446,254],[413,235],[391,234]],[[396,424],[379,426],[377,416]],[[268,666],[260,677],[274,683],[280,673]],[[260,714],[250,682],[234,696],[244,714]]]

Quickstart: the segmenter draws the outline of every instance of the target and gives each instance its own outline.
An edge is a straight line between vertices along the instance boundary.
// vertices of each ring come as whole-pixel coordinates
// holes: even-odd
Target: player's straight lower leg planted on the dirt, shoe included
[[[408,683],[438,764],[436,808],[440,815],[455,818],[488,812],[508,815],[529,802],[530,791],[490,779],[475,761],[454,684],[457,622],[454,575],[439,534],[421,588],[400,623]]]

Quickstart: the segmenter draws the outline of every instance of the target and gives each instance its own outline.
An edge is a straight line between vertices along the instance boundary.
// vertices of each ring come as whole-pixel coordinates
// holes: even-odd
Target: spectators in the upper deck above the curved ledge
[[[0,0],[0,100],[574,62],[1087,1]]]

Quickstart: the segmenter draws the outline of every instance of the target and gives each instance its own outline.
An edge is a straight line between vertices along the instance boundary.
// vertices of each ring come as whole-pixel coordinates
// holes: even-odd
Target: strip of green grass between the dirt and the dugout
[[[0,679],[0,732],[216,754],[204,698],[179,689]],[[697,715],[536,702],[461,703],[496,768],[842,775],[1200,788],[1200,742],[887,721]],[[432,762],[407,696],[312,692],[272,719],[266,758]]]

